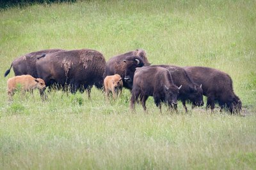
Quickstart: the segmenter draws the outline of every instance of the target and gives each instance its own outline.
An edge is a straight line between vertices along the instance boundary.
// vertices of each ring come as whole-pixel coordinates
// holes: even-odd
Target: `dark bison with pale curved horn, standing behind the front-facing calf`
[[[134,50],[120,55],[115,55],[108,60],[103,77],[119,74],[122,78],[125,77],[125,71],[134,71],[136,67],[149,66],[147,55],[144,50]],[[133,76],[132,76],[133,77]],[[132,89],[132,84],[129,79],[124,81],[124,87]]]

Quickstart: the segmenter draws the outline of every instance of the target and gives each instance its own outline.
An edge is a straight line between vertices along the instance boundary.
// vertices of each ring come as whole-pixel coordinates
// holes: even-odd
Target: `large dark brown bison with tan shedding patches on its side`
[[[54,83],[60,87],[70,85],[72,93],[86,89],[89,97],[93,85],[102,88],[105,66],[102,53],[89,49],[48,53],[36,62],[38,77],[47,87]]]

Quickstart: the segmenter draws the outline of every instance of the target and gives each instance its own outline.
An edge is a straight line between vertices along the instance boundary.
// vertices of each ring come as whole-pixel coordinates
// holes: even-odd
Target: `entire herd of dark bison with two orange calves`
[[[151,65],[142,49],[116,55],[108,62],[96,50],[41,50],[18,57],[10,69],[12,67],[15,77],[7,81],[10,99],[19,84],[23,92],[40,89],[42,98],[45,98],[46,87],[49,90],[68,87],[72,93],[86,90],[90,98],[95,85],[97,89],[104,87],[106,96],[111,92],[114,98],[120,95],[123,87],[131,90],[132,110],[139,102],[146,110],[145,103],[152,96],[160,111],[162,103],[177,111],[179,100],[187,112],[186,102],[192,107],[203,106],[203,95],[207,96],[206,108],[212,111],[215,102],[221,110],[227,108],[230,113],[238,113],[242,108],[227,73],[210,67]]]

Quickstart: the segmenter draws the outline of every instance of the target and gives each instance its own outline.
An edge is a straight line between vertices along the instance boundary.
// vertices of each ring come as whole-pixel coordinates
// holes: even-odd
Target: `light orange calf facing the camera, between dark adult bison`
[[[123,88],[123,81],[119,74],[115,74],[113,76],[106,76],[104,79],[104,87],[106,96],[109,95],[111,91],[113,94],[113,98],[115,99],[116,96],[119,96],[122,93]]]

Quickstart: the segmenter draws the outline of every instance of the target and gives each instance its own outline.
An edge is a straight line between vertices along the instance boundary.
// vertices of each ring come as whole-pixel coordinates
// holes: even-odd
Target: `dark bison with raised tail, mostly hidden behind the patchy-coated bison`
[[[6,77],[10,73],[10,70],[13,67],[15,76],[29,74],[29,75],[33,76],[34,78],[38,78],[38,75],[36,72],[36,60],[41,57],[44,57],[45,54],[47,54],[47,53],[54,53],[54,52],[60,52],[60,51],[64,51],[64,50],[49,49],[49,50],[41,50],[38,52],[31,52],[31,53],[22,55],[19,58],[13,60],[10,69],[8,69],[4,73],[4,77]]]

